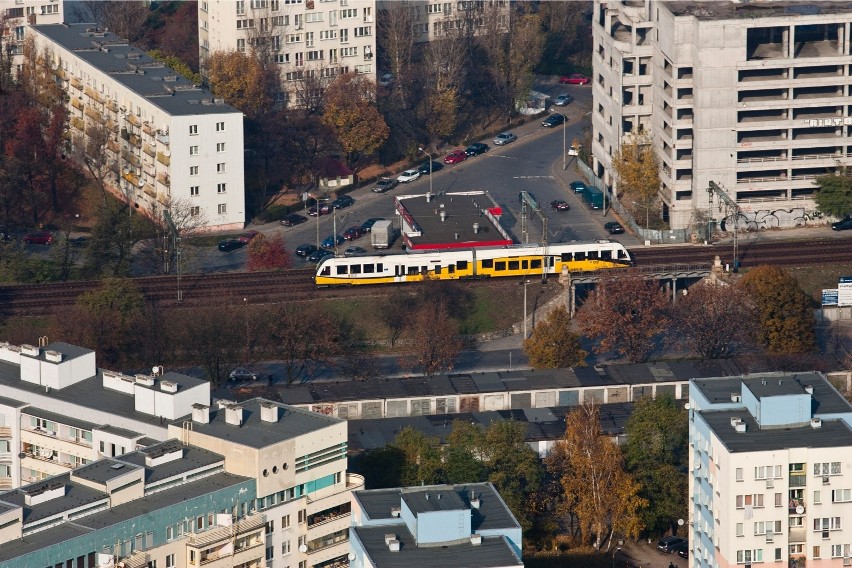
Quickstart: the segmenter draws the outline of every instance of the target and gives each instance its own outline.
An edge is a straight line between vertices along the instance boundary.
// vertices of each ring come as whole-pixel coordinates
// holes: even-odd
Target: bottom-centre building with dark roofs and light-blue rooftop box
[[[521,526],[491,483],[356,491],[353,568],[516,568]]]

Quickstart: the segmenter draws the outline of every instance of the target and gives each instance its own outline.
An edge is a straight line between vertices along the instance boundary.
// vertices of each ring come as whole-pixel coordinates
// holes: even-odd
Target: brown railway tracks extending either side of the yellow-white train
[[[636,264],[643,267],[710,265],[716,256],[724,264],[734,260],[730,244],[635,248],[630,253]],[[852,242],[848,239],[813,239],[744,243],[740,245],[739,258],[743,267],[852,262]],[[221,298],[233,298],[234,301],[244,298],[249,303],[258,304],[387,294],[385,286],[317,289],[312,277],[313,270],[303,268],[276,272],[188,274],[181,277],[180,288],[175,276],[136,278],[134,283],[146,301],[164,307],[200,306]],[[99,286],[99,281],[0,286],[0,315],[49,315],[74,305],[81,294]],[[181,301],[178,301],[178,289]]]

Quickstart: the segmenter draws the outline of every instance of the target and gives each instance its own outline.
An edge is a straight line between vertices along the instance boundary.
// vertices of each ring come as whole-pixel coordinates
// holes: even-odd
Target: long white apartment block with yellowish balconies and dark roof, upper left
[[[107,181],[122,199],[157,219],[181,208],[209,230],[243,228],[241,112],[93,24],[30,30],[68,95],[72,146],[108,131],[106,167],[120,176]]]

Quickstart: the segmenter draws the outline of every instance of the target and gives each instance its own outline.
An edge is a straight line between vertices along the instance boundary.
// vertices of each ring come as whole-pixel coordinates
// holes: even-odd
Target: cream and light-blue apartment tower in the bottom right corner
[[[820,373],[696,379],[695,567],[852,564],[852,406]]]

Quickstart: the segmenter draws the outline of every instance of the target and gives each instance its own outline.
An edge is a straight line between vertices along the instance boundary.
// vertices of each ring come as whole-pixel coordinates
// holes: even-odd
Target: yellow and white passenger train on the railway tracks
[[[624,268],[632,263],[621,243],[600,240],[552,245],[511,245],[353,257],[327,257],[317,266],[318,286],[392,284],[534,276]]]

